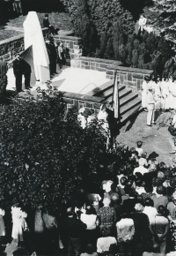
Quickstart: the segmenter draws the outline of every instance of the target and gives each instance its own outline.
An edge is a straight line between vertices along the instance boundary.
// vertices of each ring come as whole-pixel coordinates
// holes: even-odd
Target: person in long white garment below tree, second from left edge
[[[13,222],[11,237],[17,242],[24,241],[23,232],[28,230],[26,223],[26,212],[22,211],[20,207],[11,207],[11,217]]]

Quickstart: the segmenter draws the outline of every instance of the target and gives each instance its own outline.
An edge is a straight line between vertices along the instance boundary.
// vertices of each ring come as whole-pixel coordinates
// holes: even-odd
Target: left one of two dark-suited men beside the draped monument
[[[13,61],[13,73],[16,78],[16,90],[20,93],[22,92],[23,61],[19,54],[16,55],[16,58]]]

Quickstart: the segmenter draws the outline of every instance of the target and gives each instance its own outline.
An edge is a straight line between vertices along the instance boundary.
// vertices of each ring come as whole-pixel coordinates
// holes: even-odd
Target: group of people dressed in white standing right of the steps
[[[155,111],[176,109],[176,80],[145,77],[142,84],[142,106],[148,111],[147,125],[155,124]]]

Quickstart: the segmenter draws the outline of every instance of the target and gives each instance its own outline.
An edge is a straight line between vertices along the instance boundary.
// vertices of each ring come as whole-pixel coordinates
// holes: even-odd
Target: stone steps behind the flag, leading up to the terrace
[[[114,91],[114,80],[106,82],[106,84],[96,87],[86,95],[104,98],[105,101],[112,102]],[[128,121],[137,111],[141,109],[141,98],[138,94],[133,93],[130,87],[119,85],[119,98],[120,98],[120,114],[121,123]]]

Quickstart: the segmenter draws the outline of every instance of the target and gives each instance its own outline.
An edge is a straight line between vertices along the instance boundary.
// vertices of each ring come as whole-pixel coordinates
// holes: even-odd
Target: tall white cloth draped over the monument
[[[36,79],[40,82],[50,80],[48,51],[45,45],[40,21],[35,11],[29,11],[23,23],[25,31],[25,49],[33,45],[33,65]]]

